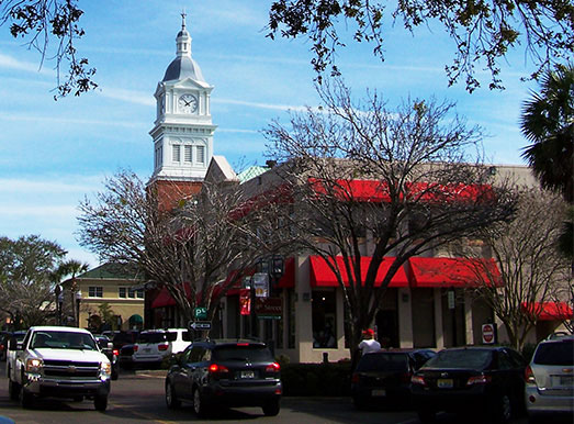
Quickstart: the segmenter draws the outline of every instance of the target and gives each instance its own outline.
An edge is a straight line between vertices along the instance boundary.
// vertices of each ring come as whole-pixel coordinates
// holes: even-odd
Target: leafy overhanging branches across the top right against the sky
[[[446,66],[450,83],[465,79],[466,89],[480,87],[476,65],[485,64],[491,71],[491,89],[504,88],[499,78],[499,62],[511,47],[522,44],[537,66],[537,77],[549,64],[574,52],[574,4],[567,0],[398,0],[396,2],[363,0],[281,0],[274,1],[269,13],[269,36],[308,37],[315,56],[312,65],[317,72],[331,66],[335,53],[345,45],[339,21],[345,29],[354,27],[356,42],[374,45],[373,53],[384,59],[383,24],[386,9],[402,21],[405,29],[440,22],[455,44],[454,59]]]

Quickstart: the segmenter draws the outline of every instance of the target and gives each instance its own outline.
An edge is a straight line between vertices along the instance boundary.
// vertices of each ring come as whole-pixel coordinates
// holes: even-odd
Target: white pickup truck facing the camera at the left
[[[9,393],[30,408],[35,398],[93,399],[108,408],[112,366],[90,332],[76,327],[36,326],[22,344],[10,345]]]

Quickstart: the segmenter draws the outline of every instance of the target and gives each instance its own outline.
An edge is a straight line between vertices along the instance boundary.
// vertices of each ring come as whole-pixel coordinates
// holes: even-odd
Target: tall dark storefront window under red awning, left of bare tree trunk
[[[334,291],[314,291],[312,299],[313,347],[337,347],[337,302]]]

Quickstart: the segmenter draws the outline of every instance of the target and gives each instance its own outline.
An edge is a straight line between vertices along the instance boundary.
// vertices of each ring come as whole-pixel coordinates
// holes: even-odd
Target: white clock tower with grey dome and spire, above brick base
[[[182,13],[177,56],[158,83],[157,118],[149,132],[154,140],[151,181],[189,182],[201,187],[213,156],[210,86],[191,57],[191,36]]]

